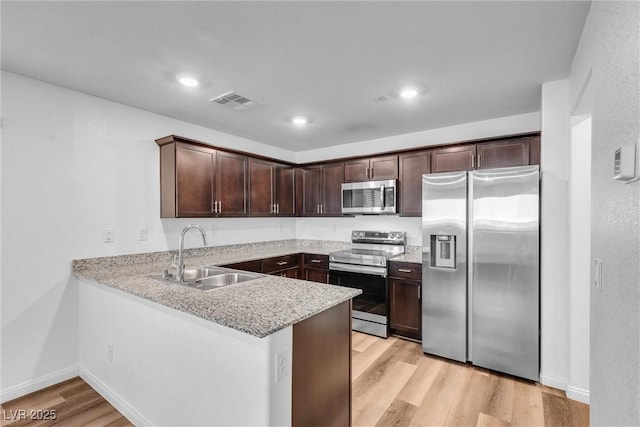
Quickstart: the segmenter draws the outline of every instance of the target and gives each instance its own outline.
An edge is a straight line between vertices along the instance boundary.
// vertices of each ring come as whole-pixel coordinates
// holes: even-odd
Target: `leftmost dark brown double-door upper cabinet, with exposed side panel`
[[[156,142],[160,145],[162,218],[249,214],[247,156],[173,136]]]

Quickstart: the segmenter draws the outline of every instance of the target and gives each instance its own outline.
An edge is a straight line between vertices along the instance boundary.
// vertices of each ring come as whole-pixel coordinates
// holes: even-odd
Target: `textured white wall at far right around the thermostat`
[[[640,3],[593,2],[569,76],[592,92],[590,286],[592,425],[640,425],[640,183],[614,182],[613,154],[640,132]],[[593,283],[593,280],[592,282]]]

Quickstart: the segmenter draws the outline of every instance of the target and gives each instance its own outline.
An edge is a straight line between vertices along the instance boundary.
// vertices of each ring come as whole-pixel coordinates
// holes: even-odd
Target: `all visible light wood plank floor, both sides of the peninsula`
[[[425,356],[418,343],[353,333],[354,426],[588,426],[564,392]],[[80,378],[1,406],[1,426],[131,426]],[[20,418],[20,410],[27,419]],[[31,411],[55,410],[55,420]],[[46,412],[36,413],[46,415]]]

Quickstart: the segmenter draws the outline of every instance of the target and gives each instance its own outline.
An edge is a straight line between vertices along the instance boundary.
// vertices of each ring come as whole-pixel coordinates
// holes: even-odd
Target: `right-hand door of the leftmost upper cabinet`
[[[247,216],[249,209],[249,159],[225,151],[218,151],[216,198],[220,216]]]

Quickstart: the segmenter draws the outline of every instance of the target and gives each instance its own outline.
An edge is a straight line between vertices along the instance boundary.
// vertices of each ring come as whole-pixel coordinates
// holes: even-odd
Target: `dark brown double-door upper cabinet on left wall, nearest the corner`
[[[295,168],[269,160],[249,160],[251,216],[295,215]]]

